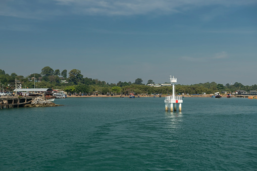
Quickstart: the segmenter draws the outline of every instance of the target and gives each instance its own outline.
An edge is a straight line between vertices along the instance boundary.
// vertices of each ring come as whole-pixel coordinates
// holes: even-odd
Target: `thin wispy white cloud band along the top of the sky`
[[[59,15],[107,15],[131,16],[149,13],[173,14],[195,7],[220,5],[242,6],[256,4],[255,0],[3,0],[0,2],[0,16],[23,18],[46,18]]]

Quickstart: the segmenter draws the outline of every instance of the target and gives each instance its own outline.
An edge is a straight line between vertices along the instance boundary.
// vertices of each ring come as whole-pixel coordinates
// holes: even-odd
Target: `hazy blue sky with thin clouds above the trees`
[[[257,84],[256,0],[1,0],[0,69]]]

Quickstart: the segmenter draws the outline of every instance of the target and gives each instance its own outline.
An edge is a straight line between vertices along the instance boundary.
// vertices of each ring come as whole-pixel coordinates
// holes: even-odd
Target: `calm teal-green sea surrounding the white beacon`
[[[257,100],[74,97],[0,109],[0,170],[257,170]],[[178,106],[177,106],[178,109]]]

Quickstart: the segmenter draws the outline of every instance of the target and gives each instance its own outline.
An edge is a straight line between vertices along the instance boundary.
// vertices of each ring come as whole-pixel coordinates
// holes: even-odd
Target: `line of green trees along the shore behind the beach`
[[[59,69],[53,70],[50,67],[44,67],[41,73],[33,73],[26,77],[19,76],[16,73],[11,75],[6,74],[4,70],[0,69],[0,85],[1,90],[13,91],[15,89],[15,78],[18,80],[18,84],[22,85],[22,88],[53,88],[62,89],[67,93],[93,93],[98,91],[101,94],[108,93],[130,93],[136,94],[172,94],[172,86],[165,87],[150,87],[144,85],[143,80],[137,78],[134,83],[121,82],[107,83],[106,81],[100,81],[98,79],[87,78],[81,74],[80,70],[73,69],[69,73],[67,70],[60,72]],[[34,84],[35,79],[35,84]],[[61,80],[67,80],[68,83],[62,83]],[[147,84],[154,84],[153,80],[148,80]],[[236,90],[256,90],[257,85],[244,86],[241,83],[236,82],[233,85],[230,84],[217,84],[215,82],[199,83],[193,85],[176,85],[176,93],[185,94],[212,94],[217,91],[235,92]]]

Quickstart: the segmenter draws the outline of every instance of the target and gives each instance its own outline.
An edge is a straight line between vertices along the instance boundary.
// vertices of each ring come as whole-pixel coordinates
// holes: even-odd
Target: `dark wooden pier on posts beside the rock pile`
[[[0,97],[0,108],[24,107],[31,103],[35,97]]]

